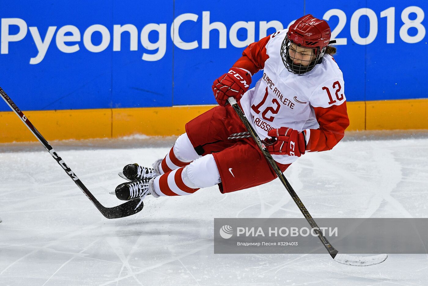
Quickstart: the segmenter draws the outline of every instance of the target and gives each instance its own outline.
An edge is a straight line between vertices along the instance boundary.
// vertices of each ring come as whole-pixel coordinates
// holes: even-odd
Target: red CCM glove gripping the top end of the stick
[[[229,97],[238,101],[248,90],[251,84],[251,75],[237,67],[232,67],[228,73],[217,78],[212,86],[215,100],[221,106],[226,105]]]

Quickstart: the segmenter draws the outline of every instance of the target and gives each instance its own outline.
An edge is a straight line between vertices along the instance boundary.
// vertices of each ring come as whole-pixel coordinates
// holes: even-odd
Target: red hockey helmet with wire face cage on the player
[[[281,46],[281,57],[290,72],[303,74],[311,71],[317,63],[321,63],[327,45],[330,42],[331,31],[326,21],[308,14],[297,19],[288,29]],[[311,48],[315,58],[307,64],[294,63],[290,56],[290,45],[295,44],[303,48]],[[311,57],[313,58],[313,57]]]

